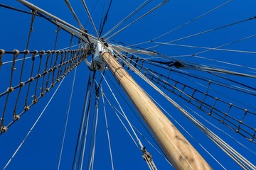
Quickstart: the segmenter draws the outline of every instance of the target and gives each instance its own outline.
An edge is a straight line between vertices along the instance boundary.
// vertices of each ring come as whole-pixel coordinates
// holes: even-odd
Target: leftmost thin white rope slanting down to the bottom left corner
[[[18,150],[21,149],[21,146],[23,145],[23,143],[26,141],[26,139],[28,138],[28,135],[30,135],[30,133],[32,132],[33,128],[35,128],[36,124],[38,123],[38,120],[40,120],[40,118],[42,117],[43,113],[46,111],[46,108],[48,107],[48,105],[50,104],[50,102],[52,101],[53,97],[55,96],[56,92],[58,91],[60,85],[63,83],[63,80],[65,79],[65,77],[63,77],[63,79],[60,81],[60,84],[58,85],[57,89],[55,89],[53,96],[50,97],[50,100],[48,101],[48,103],[46,104],[45,108],[43,108],[43,111],[41,112],[41,114],[39,115],[39,117],[37,118],[36,122],[33,124],[33,126],[31,127],[31,129],[28,131],[28,134],[26,135],[26,137],[23,139],[23,141],[21,142],[21,144],[18,146],[18,148],[16,149],[16,151],[14,152],[14,154],[11,156],[11,159],[9,159],[9,162],[7,162],[6,166],[4,166],[4,170],[7,168],[7,166],[9,166],[9,164],[11,163],[11,160],[15,157],[15,155],[17,154]]]

